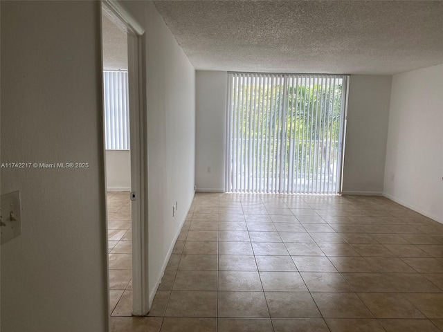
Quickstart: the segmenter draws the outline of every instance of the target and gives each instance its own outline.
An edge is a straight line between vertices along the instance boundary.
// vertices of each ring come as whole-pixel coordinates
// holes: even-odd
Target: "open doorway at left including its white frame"
[[[144,255],[144,30],[115,1],[102,2],[103,98],[109,242],[109,315],[146,315]]]

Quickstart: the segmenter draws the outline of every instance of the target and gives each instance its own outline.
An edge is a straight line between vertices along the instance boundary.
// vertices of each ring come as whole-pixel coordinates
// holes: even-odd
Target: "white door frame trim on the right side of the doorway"
[[[132,315],[147,315],[147,142],[143,100],[142,36],[145,29],[115,0],[102,0],[102,12],[127,32],[129,131],[131,151]],[[109,288],[109,286],[108,286]]]

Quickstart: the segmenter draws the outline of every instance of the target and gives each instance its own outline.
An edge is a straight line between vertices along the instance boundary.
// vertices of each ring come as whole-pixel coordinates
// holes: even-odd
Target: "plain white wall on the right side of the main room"
[[[443,64],[394,75],[385,195],[443,223]]]

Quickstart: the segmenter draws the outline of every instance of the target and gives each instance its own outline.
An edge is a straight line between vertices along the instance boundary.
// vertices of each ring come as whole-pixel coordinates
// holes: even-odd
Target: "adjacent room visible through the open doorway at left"
[[[132,211],[127,32],[102,15],[106,190],[109,246],[109,310],[131,315]],[[119,304],[119,306],[117,306]]]

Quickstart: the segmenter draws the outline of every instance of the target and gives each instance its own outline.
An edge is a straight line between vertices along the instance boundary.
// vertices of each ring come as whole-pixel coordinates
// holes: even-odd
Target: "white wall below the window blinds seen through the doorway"
[[[131,190],[129,150],[106,150],[106,186],[108,192]]]

